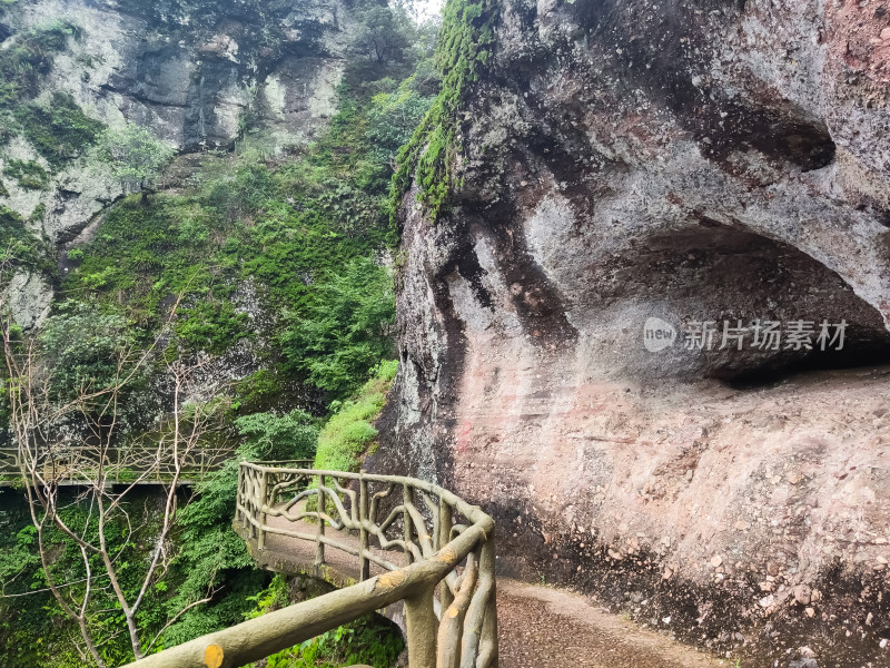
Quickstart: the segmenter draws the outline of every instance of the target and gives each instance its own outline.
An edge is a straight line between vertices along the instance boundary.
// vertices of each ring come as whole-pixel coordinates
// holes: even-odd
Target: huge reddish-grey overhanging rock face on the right
[[[493,511],[505,570],[887,665],[890,9],[505,0],[496,37],[451,214],[404,200],[378,465]]]

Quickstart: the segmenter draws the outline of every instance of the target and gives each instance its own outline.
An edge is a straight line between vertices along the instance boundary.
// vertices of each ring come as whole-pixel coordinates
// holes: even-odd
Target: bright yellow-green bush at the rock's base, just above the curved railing
[[[336,412],[318,435],[315,468],[326,471],[357,471],[359,459],[373,450],[377,430],[372,422],[377,419],[386,401],[386,393],[398,370],[398,362],[383,362],[377,373],[359,390],[357,395],[336,406]]]

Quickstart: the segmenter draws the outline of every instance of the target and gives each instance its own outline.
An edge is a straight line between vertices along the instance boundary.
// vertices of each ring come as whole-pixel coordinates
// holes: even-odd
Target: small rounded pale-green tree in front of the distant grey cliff
[[[176,151],[137,125],[109,128],[102,135],[100,155],[111,165],[123,193],[141,193],[142,202],[157,188]]]

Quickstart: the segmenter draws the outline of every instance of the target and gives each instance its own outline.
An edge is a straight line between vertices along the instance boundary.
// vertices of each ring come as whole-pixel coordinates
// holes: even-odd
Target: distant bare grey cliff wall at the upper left
[[[88,116],[149,127],[185,151],[228,147],[249,121],[265,127],[275,153],[305,145],[334,112],[346,13],[337,0],[19,0],[0,16],[0,39],[14,48],[29,30],[75,28],[38,102],[68,92]],[[20,138],[1,154],[0,167],[42,161]],[[48,191],[7,187],[1,203],[26,217],[43,204],[55,242],[73,238],[120,196],[107,170],[85,159],[56,174]]]

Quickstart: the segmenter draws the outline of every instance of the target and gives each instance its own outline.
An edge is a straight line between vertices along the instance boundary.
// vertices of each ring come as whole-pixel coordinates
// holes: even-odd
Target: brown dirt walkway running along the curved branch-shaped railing
[[[268,518],[273,527],[314,536],[314,524]],[[335,532],[332,532],[335,533]],[[345,543],[355,537],[337,536]],[[310,564],[315,544],[270,534],[258,561],[299,572]],[[386,557],[400,563],[399,554]],[[258,554],[255,553],[255,558]],[[358,577],[356,559],[328,547],[325,579],[343,587]],[[383,572],[377,567],[372,574]],[[612,615],[591,599],[553,587],[497,579],[500,668],[716,668],[725,666],[695,649]]]

